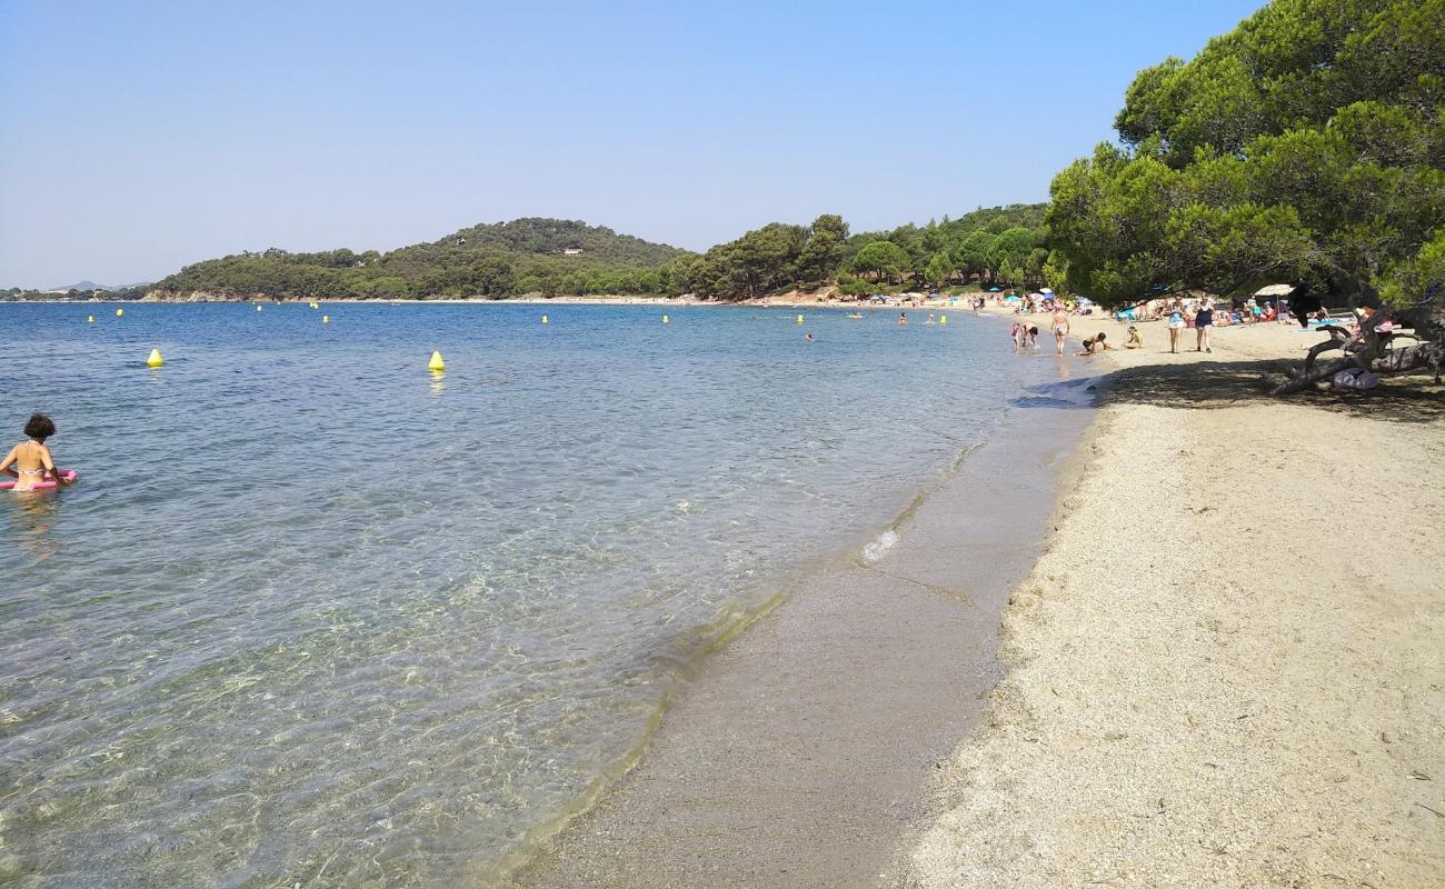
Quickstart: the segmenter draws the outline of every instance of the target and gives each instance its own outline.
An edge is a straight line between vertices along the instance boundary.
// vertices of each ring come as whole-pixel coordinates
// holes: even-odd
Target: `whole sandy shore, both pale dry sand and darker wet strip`
[[[1143,350],[1085,358],[1127,325],[1074,318],[1066,363],[1101,396],[1077,451],[970,454],[957,484],[983,487],[900,522],[932,558],[894,554],[883,598],[841,568],[792,590],[514,885],[1439,885],[1445,499],[1416,481],[1445,457],[1436,389],[1273,399],[1319,334],[1195,353],[1189,330],[1168,354],[1139,327]],[[1033,546],[978,539],[1019,520],[987,478],[1056,486]],[[1006,552],[1038,561],[990,606],[959,568]],[[948,590],[981,596],[951,613]]]

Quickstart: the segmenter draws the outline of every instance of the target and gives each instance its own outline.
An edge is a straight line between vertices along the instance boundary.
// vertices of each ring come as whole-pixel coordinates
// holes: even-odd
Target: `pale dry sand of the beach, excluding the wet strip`
[[[1439,387],[1272,399],[1318,334],[1140,327],[1077,358],[1117,373],[894,885],[1445,885]]]

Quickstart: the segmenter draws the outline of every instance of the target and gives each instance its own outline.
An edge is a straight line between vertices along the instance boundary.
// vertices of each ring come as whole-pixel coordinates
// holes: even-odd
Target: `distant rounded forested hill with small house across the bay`
[[[160,298],[272,299],[490,296],[662,292],[668,263],[686,250],[574,220],[473,226],[387,253],[238,253],[186,266],[152,288]]]

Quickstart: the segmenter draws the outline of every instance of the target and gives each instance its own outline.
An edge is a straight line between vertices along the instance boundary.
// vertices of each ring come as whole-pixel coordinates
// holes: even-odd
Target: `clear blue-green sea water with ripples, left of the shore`
[[[0,882],[484,882],[1056,373],[957,309],[322,311],[0,305],[81,473],[0,497]]]

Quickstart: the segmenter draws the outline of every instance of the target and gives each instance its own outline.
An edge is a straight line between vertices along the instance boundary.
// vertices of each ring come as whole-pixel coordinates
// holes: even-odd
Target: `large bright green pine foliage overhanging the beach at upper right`
[[[1046,267],[1105,301],[1390,286],[1445,220],[1442,103],[1445,0],[1274,0],[1134,78],[1124,147],[1053,179]]]

